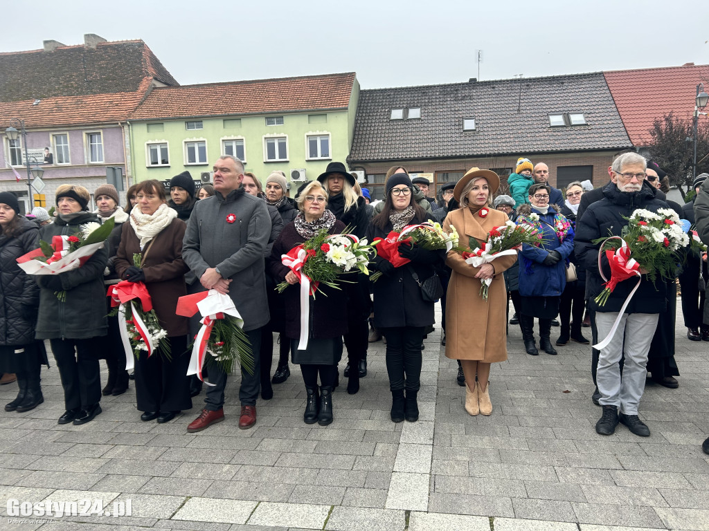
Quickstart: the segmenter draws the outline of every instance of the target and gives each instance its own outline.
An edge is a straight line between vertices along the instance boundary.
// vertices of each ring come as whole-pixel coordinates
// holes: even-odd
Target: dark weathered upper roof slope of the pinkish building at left
[[[143,40],[0,53],[0,101],[131,92],[146,77],[178,84]]]

